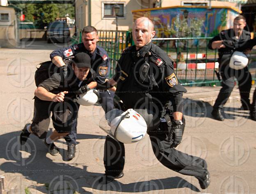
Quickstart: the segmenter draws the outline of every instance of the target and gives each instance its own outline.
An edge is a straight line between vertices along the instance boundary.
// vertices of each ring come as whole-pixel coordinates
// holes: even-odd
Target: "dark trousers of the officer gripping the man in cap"
[[[100,91],[99,96],[100,96],[100,98],[98,100],[98,103],[101,104],[105,113],[107,113],[108,111],[110,111],[114,108],[114,103],[113,103],[114,92]],[[76,144],[76,139],[77,139],[76,127],[77,127],[77,119],[74,120],[74,122],[73,122],[71,132],[67,136],[64,137],[64,139],[66,140],[66,143],[68,145]]]

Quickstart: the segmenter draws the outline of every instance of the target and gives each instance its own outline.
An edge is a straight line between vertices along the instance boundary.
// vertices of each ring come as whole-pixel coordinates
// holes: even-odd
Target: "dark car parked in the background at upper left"
[[[65,21],[51,22],[46,31],[47,42],[68,42],[70,40],[69,27]]]

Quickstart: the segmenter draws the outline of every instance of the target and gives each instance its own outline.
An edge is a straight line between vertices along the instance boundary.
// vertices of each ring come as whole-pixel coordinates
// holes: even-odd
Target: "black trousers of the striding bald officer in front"
[[[167,125],[167,124],[166,124]],[[207,164],[202,158],[190,156],[170,148],[172,142],[166,141],[167,133],[149,133],[153,152],[164,166],[181,174],[204,178]],[[123,143],[106,137],[104,145],[105,173],[118,176],[124,167],[125,149]]]

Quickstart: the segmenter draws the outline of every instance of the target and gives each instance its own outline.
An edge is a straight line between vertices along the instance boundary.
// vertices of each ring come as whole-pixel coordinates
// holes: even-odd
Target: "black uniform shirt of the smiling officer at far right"
[[[249,49],[249,45],[245,45],[248,40],[251,38],[251,33],[249,31],[243,30],[239,39],[235,38],[235,33],[233,29],[223,30],[217,36],[213,37],[209,43],[208,48],[213,49],[212,42],[217,40],[231,40],[233,42],[233,46],[225,45],[225,48],[218,49],[219,51],[219,60],[221,60],[223,55],[232,54],[234,51],[244,51],[245,49]],[[245,48],[246,46],[246,48]],[[252,47],[251,47],[252,48]],[[250,48],[250,49],[251,49]],[[230,57],[229,57],[230,58]]]

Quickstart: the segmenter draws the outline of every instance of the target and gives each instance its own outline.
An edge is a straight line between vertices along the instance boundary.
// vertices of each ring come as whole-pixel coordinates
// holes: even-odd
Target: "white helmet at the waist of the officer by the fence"
[[[244,69],[248,65],[248,57],[246,54],[235,51],[229,61],[229,67],[235,70]]]

